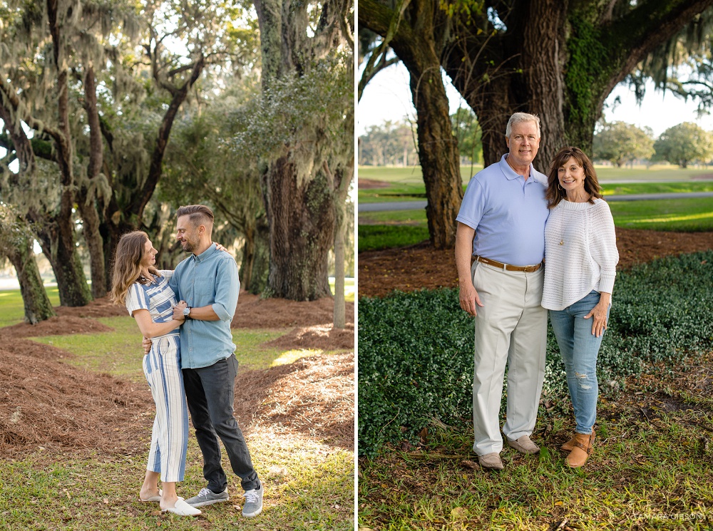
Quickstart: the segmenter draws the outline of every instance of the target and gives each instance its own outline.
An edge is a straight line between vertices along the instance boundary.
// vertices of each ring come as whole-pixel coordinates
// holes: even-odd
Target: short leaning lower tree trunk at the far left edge
[[[30,237],[22,238],[16,246],[5,249],[7,257],[15,267],[20,283],[20,293],[25,308],[25,322],[37,324],[55,316],[52,304],[44,289],[42,277],[32,250],[34,242]]]

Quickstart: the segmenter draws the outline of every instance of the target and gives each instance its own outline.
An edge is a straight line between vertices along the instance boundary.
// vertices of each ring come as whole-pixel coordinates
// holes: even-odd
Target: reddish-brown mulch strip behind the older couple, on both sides
[[[617,228],[619,265],[635,264],[670,254],[713,249],[713,232],[657,232]],[[398,289],[458,287],[453,249],[437,250],[429,242],[401,249],[359,253],[359,297],[384,297]]]

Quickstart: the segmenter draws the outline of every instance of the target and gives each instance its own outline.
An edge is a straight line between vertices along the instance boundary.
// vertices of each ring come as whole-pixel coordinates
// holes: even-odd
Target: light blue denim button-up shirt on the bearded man
[[[237,264],[227,252],[211,244],[204,252],[180,262],[169,286],[179,300],[191,308],[212,306],[220,321],[185,320],[180,327],[182,368],[200,368],[215,364],[235,352],[230,322],[235,315],[240,280]]]

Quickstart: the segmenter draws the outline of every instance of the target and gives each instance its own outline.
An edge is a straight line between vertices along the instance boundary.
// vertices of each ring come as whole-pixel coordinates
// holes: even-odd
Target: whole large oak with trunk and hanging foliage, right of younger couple
[[[255,0],[262,98],[237,139],[261,155],[272,297],[331,296],[328,252],[353,177],[353,7]]]

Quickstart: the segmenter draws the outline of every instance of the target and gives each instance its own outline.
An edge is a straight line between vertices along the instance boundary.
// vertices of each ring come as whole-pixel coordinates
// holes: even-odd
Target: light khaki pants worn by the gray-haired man
[[[483,307],[478,306],[473,371],[473,451],[478,455],[503,449],[500,403],[508,366],[507,421],[510,440],[535,428],[545,377],[547,310],[540,306],[544,268],[534,273],[503,271],[473,262],[471,278]]]

